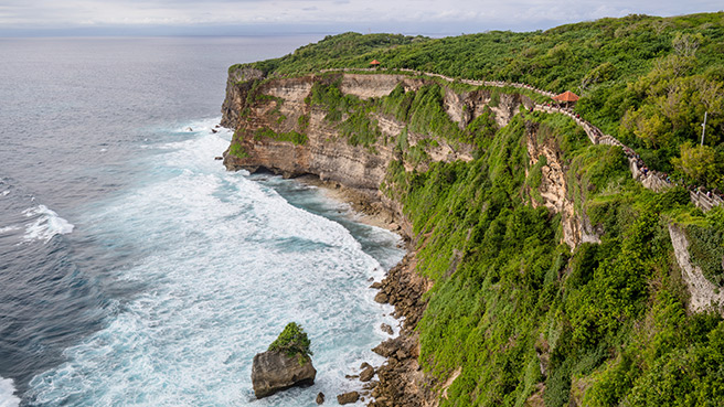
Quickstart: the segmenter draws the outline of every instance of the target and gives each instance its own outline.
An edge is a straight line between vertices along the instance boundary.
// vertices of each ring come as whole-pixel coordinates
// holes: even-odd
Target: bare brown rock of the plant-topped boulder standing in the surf
[[[294,386],[315,384],[317,369],[311,358],[289,356],[284,352],[267,351],[254,356],[252,385],[256,398],[270,396]]]

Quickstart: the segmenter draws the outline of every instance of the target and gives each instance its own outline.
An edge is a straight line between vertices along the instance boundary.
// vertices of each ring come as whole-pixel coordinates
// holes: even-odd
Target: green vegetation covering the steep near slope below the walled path
[[[420,363],[441,382],[462,367],[441,405],[522,406],[539,384],[546,406],[723,403],[724,322],[686,313],[667,228],[686,211],[723,231],[722,212],[702,218],[686,191],[645,190],[620,149],[589,146],[555,116],[526,120],[557,140],[577,205],[605,231],[600,244],[571,253],[560,216],[521,199],[540,183],[536,171],[524,175],[521,117],[473,162],[425,173],[395,162],[387,174],[386,193],[420,237],[418,271],[435,281]]]

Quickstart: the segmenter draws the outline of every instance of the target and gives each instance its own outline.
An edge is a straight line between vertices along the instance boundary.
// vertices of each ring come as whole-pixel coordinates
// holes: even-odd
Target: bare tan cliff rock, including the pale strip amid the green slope
[[[453,144],[440,138],[436,138],[434,143],[425,142],[430,138],[428,135],[407,131],[407,124],[391,115],[375,113],[370,115],[381,137],[370,146],[354,146],[340,135],[337,124],[327,119],[328,111],[322,106],[310,103],[315,84],[332,83],[338,84],[343,95],[365,100],[387,96],[397,86],[405,92],[418,90],[430,84],[432,79],[353,73],[265,79],[260,71],[233,71],[222,107],[222,125],[236,130],[232,148],[237,144],[238,150],[234,153],[230,148],[224,153],[225,167],[228,170],[245,169],[252,173],[267,170],[287,178],[313,174],[323,181],[365,191],[369,197],[382,202],[395,213],[396,222],[405,226],[400,205],[377,190],[390,162],[400,160],[407,171],[425,171],[429,162],[470,161],[473,148],[465,143]],[[443,106],[448,117],[464,129],[487,109],[492,113],[494,122],[503,127],[521,108],[532,109],[534,103],[518,94],[493,95],[488,89],[456,92],[446,88]],[[546,158],[546,164],[541,169],[543,176],[539,188],[543,200],[533,201],[533,205],[542,204],[562,214],[563,240],[572,248],[584,242],[599,242],[601,231],[595,231],[585,214],[581,216],[574,210],[566,185],[565,164],[560,159],[557,148],[550,142],[539,143],[536,130],[535,127],[528,129],[530,164],[534,165],[540,157]],[[403,132],[408,148],[422,146],[428,160],[403,160],[403,152],[395,148],[395,140]],[[296,142],[278,137],[289,133],[305,137]],[[404,228],[409,229],[407,226]]]

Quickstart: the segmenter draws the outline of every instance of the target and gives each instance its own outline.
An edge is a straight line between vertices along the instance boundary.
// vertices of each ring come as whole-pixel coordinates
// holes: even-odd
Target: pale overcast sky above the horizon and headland
[[[1,0],[0,36],[460,34],[722,9],[722,0]]]

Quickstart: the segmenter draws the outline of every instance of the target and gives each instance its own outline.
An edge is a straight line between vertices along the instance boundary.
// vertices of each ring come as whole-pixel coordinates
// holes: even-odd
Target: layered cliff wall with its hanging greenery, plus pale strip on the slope
[[[393,92],[416,95],[420,89],[438,93],[437,119],[457,126],[461,135],[467,131],[467,140],[465,136],[439,137],[420,126],[412,126],[417,130],[413,131],[411,124],[391,114],[391,109],[364,111],[363,119],[358,116]],[[534,106],[535,101],[523,94],[494,88],[456,92],[422,76],[340,72],[265,79],[260,71],[238,69],[230,75],[222,109],[222,125],[236,130],[224,153],[224,165],[249,172],[267,170],[286,178],[312,174],[384,203],[402,224],[408,224],[402,221],[401,206],[380,191],[393,161],[402,163],[406,171],[425,171],[433,162],[470,162],[476,151],[470,132],[496,131],[521,110],[532,110]],[[362,121],[361,126],[355,119]],[[546,165],[541,167],[545,172],[543,192],[540,200],[532,201],[533,205],[543,204],[562,214],[563,240],[569,246],[595,242],[593,226],[573,211],[555,146],[539,146],[536,131],[537,126],[528,127],[531,164],[544,154]]]

